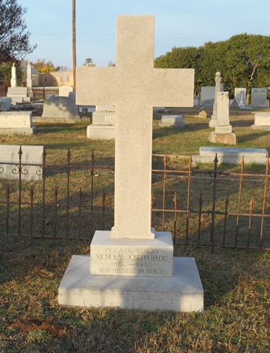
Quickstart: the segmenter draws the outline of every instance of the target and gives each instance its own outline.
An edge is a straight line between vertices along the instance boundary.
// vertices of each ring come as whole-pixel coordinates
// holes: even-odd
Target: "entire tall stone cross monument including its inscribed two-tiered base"
[[[88,259],[73,256],[60,304],[203,308],[194,259],[173,258],[171,232],[151,228],[153,107],[192,107],[194,70],[154,68],[153,58],[154,16],[117,16],[116,67],[77,68],[77,104],[116,107],[114,227],[95,232]]]

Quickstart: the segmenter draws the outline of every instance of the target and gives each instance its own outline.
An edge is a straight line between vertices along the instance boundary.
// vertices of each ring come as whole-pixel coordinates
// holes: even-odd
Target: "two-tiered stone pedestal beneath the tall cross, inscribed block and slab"
[[[156,232],[157,239],[150,240],[111,239],[108,247],[104,241],[109,232],[95,235],[91,256],[71,258],[59,286],[59,304],[145,311],[203,310],[204,291],[195,259],[170,255],[170,233]],[[116,244],[117,241],[123,244]],[[133,268],[136,270],[130,271]],[[144,270],[145,275],[138,269]],[[100,274],[94,275],[99,270]]]

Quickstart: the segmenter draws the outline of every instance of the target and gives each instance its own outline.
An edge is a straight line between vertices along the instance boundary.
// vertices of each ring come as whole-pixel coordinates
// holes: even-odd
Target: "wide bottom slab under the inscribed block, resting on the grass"
[[[173,277],[90,275],[90,256],[71,258],[59,304],[144,311],[203,311],[204,291],[194,258],[173,258]]]

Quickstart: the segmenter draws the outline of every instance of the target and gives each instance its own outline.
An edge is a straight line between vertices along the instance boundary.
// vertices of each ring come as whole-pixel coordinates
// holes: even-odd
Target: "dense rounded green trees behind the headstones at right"
[[[203,85],[215,85],[220,71],[224,89],[233,96],[235,87],[270,86],[270,36],[234,35],[221,42],[206,42],[202,47],[173,47],[155,59],[156,67],[195,68],[195,92]]]

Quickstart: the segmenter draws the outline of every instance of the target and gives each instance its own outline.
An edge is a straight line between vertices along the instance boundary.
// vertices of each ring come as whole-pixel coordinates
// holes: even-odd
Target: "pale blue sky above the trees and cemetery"
[[[27,8],[30,44],[25,59],[73,68],[73,0],[18,0]],[[269,0],[76,0],[77,66],[116,61],[116,15],[154,15],[154,57],[173,47],[200,47],[240,33],[270,35]]]

